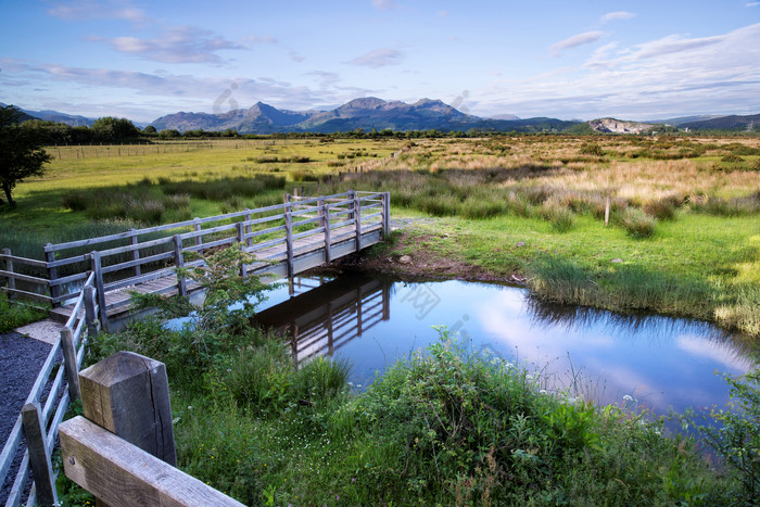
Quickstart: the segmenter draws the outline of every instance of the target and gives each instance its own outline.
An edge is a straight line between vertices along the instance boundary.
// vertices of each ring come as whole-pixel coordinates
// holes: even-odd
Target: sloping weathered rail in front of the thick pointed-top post
[[[112,507],[243,505],[81,416],[59,432],[66,477]]]

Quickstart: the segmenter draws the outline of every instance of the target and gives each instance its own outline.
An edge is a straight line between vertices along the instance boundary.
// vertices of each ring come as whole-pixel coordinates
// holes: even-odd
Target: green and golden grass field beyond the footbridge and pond
[[[760,337],[755,137],[216,140],[50,152],[48,174],[21,183],[18,206],[2,211],[0,245],[22,255],[93,228],[274,204],[296,187],[387,190],[394,216],[436,217],[396,250],[422,242],[496,276],[518,271],[549,300],[699,317]],[[328,183],[339,172],[343,181]]]

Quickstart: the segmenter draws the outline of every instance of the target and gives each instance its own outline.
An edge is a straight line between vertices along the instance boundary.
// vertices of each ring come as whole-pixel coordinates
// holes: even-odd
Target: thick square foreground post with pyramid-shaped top
[[[166,366],[117,352],[79,373],[85,417],[156,458],[177,466]]]

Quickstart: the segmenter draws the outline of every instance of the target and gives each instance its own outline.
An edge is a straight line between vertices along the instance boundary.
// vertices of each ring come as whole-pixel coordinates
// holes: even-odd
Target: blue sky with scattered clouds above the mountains
[[[0,0],[0,102],[147,123],[261,101],[760,113],[760,1]]]

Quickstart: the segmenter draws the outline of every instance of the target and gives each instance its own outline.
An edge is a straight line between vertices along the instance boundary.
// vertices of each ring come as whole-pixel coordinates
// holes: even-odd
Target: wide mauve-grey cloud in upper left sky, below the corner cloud
[[[106,40],[118,52],[164,63],[220,64],[224,60],[217,54],[218,51],[245,49],[238,42],[194,26],[168,27],[154,38],[115,37],[113,39],[92,38],[92,40]]]

